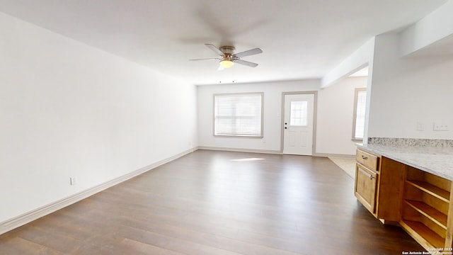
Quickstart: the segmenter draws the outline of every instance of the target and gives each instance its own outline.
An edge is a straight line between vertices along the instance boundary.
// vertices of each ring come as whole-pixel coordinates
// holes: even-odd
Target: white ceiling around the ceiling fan
[[[190,84],[321,78],[374,35],[447,0],[0,0],[0,11]],[[260,47],[217,71],[204,43]]]

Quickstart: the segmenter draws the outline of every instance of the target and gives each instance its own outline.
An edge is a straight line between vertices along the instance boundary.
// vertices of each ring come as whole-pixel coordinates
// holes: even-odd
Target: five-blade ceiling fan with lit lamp
[[[213,52],[215,52],[219,57],[214,57],[214,58],[207,58],[207,59],[197,59],[197,60],[219,60],[219,70],[222,70],[224,68],[229,68],[232,67],[234,63],[238,64],[243,64],[248,67],[257,67],[258,64],[253,63],[253,62],[248,62],[245,60],[241,60],[241,57],[246,57],[250,55],[256,55],[263,53],[263,50],[260,48],[254,48],[251,50],[246,50],[243,52],[239,52],[234,54],[234,50],[236,50],[235,47],[233,46],[222,46],[222,47],[215,47],[212,44],[205,43],[206,47],[210,48]]]

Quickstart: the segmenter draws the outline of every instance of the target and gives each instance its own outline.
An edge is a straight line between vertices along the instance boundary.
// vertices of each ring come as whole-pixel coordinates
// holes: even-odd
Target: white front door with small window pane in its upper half
[[[314,94],[285,95],[283,154],[313,153]]]

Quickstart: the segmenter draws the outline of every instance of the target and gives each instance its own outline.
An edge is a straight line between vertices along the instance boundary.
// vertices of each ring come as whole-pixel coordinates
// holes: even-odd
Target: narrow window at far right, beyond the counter
[[[355,89],[354,123],[352,140],[362,140],[365,132],[365,108],[367,104],[367,89]]]

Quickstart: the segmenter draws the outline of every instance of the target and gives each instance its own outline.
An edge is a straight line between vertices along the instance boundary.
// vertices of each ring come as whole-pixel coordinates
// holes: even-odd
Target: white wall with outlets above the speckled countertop
[[[453,57],[401,58],[399,45],[398,34],[376,38],[368,136],[453,139]],[[450,130],[433,131],[435,121]]]

